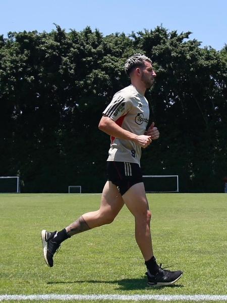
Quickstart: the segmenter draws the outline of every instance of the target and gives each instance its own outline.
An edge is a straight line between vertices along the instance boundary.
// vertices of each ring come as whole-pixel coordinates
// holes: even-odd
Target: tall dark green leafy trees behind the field
[[[130,83],[126,59],[144,53],[156,83],[147,92],[160,138],[143,150],[144,174],[178,174],[181,191],[223,191],[227,175],[227,51],[200,48],[190,32],[103,36],[0,36],[0,175],[20,175],[25,192],[100,192],[108,136],[97,128],[112,95]]]

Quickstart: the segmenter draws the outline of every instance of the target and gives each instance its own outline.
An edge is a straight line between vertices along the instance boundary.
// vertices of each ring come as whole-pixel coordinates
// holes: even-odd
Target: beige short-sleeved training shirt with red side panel
[[[111,118],[122,128],[143,135],[149,120],[147,99],[132,84],[118,91],[103,115]],[[111,136],[107,161],[137,163],[140,165],[141,147],[135,142]]]

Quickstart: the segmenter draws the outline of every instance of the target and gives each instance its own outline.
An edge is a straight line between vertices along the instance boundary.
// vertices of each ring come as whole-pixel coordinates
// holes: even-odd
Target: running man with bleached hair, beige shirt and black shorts
[[[118,91],[104,110],[99,129],[110,135],[107,159],[107,181],[99,210],[83,214],[78,220],[57,232],[42,230],[41,238],[46,264],[53,266],[53,255],[61,243],[71,236],[111,223],[124,204],[135,218],[135,238],[147,267],[149,286],[170,285],[179,280],[182,271],[168,271],[158,266],[153,254],[148,201],[140,169],[141,147],[158,139],[154,123],[147,129],[149,106],[144,97],[156,76],[152,61],[134,55],[125,64],[131,85]]]

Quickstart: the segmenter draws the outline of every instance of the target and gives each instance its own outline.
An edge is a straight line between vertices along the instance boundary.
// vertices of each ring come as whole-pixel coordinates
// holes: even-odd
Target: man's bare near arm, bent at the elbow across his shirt
[[[98,128],[110,136],[134,141],[143,148],[147,147],[151,143],[151,138],[149,135],[136,135],[128,130],[123,129],[112,119],[106,116],[102,116]]]

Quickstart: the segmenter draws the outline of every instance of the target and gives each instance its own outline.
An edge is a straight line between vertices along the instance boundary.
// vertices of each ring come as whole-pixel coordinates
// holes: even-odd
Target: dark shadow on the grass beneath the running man
[[[162,289],[163,287],[180,288],[184,287],[182,284],[174,284],[159,287],[148,287],[144,278],[141,279],[122,279],[113,281],[98,281],[98,280],[86,280],[86,281],[48,281],[47,284],[70,284],[70,283],[94,283],[94,284],[116,284],[118,290],[136,290],[136,289]]]

